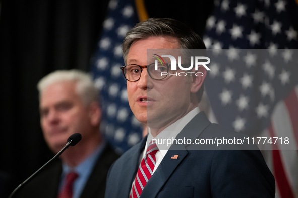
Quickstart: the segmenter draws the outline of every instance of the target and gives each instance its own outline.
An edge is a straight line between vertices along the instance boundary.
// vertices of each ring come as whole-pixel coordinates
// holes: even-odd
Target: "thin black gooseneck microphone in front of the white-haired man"
[[[75,146],[78,142],[80,142],[80,140],[82,139],[82,135],[80,133],[75,133],[73,135],[71,135],[68,139],[67,139],[67,144],[63,147],[63,149],[61,149],[61,151],[59,151],[52,159],[50,159],[48,162],[46,162],[46,164],[44,164],[41,168],[39,168],[36,172],[34,172],[28,179],[26,179],[23,183],[21,183],[11,194],[8,198],[12,198],[14,196],[14,194],[21,189],[21,187],[23,187],[27,182],[31,181],[42,169],[44,169],[51,161],[53,161],[54,159],[56,159],[57,157],[59,157],[61,155],[61,153],[63,153],[69,146]]]

